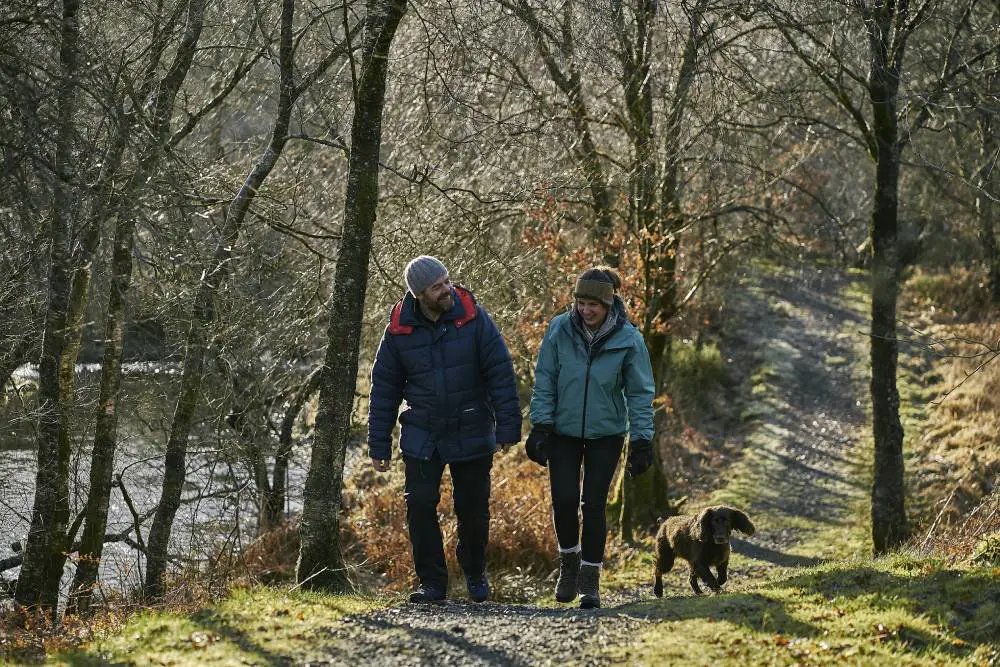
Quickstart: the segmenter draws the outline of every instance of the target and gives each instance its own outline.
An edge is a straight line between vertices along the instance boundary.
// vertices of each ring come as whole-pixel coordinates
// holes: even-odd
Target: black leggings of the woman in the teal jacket
[[[624,444],[624,435],[584,440],[553,434],[546,446],[552,489],[552,514],[559,547],[569,549],[580,544],[581,557],[588,563],[604,561],[604,543],[608,536],[608,522],[605,518],[608,490]]]

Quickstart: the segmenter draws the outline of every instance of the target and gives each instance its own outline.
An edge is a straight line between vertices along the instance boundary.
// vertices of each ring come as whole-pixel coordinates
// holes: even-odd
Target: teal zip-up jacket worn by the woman
[[[639,330],[615,297],[617,326],[588,345],[573,309],[549,324],[538,350],[531,423],[556,433],[602,438],[629,433],[653,439],[653,368]]]

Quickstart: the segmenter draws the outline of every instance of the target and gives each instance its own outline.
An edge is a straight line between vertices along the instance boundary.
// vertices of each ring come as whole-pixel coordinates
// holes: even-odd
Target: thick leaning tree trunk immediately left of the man
[[[369,0],[361,76],[351,122],[344,232],[330,304],[319,413],[306,478],[301,551],[296,576],[306,588],[347,590],[351,583],[340,548],[340,503],[354,392],[368,262],[378,205],[379,149],[389,47],[406,0]]]

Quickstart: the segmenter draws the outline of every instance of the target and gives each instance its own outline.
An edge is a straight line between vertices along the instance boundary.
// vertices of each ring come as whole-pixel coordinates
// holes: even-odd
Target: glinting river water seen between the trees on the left
[[[77,370],[78,409],[73,419],[70,468],[74,517],[86,502],[100,368],[81,365]],[[140,516],[151,511],[159,500],[178,373],[179,365],[164,363],[131,364],[125,369],[115,472],[123,473],[124,485]],[[37,467],[31,414],[36,377],[32,368],[18,369],[14,376],[17,391],[8,389],[0,402],[0,559],[15,553],[12,543],[23,544],[31,521]],[[208,411],[202,408],[201,420],[188,445],[187,481],[170,546],[170,554],[189,566],[204,565],[220,552],[240,550],[253,540],[257,529],[256,491],[249,470],[233,451],[233,433],[225,424],[210,420]],[[307,449],[297,444],[288,473],[289,514],[301,509],[308,461]],[[143,524],[144,537],[151,521]],[[118,533],[132,523],[120,490],[113,489],[107,532]],[[141,585],[143,568],[144,558],[139,552],[124,543],[108,543],[101,562],[102,586],[130,593]],[[64,587],[72,571],[71,563],[67,563]],[[17,569],[8,570],[0,577],[9,580],[17,573]]]

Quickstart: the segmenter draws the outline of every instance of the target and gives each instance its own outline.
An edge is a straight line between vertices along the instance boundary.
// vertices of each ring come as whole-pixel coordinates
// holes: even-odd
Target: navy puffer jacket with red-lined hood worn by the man
[[[404,456],[445,463],[521,439],[514,365],[496,324],[472,292],[452,289],[454,305],[431,322],[409,293],[382,335],[368,407],[368,454],[390,458],[397,415]],[[399,414],[399,406],[406,409]]]

